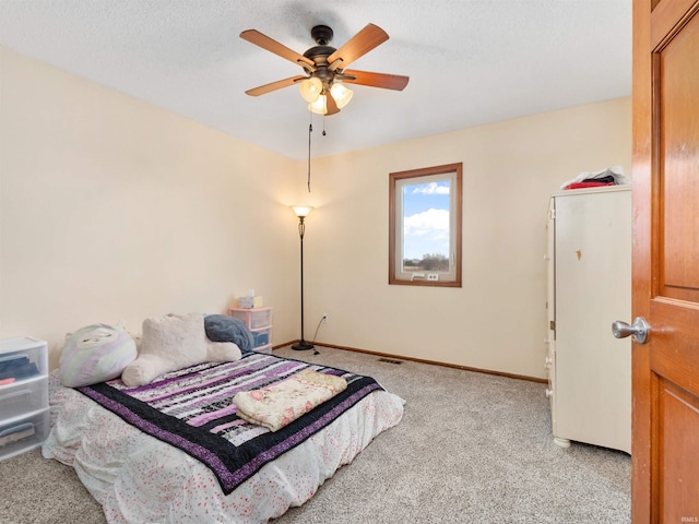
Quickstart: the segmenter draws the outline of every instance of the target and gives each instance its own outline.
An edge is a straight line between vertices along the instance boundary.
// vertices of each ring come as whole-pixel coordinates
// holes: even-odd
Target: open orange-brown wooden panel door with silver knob
[[[699,1],[633,1],[635,524],[699,522]]]

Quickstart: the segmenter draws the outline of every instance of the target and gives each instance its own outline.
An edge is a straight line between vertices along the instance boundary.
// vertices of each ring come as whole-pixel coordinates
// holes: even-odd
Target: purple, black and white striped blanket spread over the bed
[[[342,377],[347,388],[279,431],[238,417],[236,393],[270,386],[304,370]],[[206,465],[225,495],[381,389],[370,377],[261,353],[235,362],[192,366],[138,388],[118,379],[76,388],[128,424]]]

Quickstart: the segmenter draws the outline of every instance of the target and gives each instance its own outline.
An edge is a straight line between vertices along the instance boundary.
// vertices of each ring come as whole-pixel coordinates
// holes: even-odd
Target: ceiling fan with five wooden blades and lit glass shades
[[[352,91],[343,84],[359,84],[394,91],[403,91],[407,85],[408,76],[345,69],[351,62],[389,39],[389,35],[381,27],[368,24],[340,49],[329,45],[333,32],[327,25],[315,26],[310,35],[317,45],[304,55],[299,55],[257,29],[240,33],[240,38],[300,66],[306,72],[305,76],[279,80],[248,90],[246,94],[264,95],[298,83],[301,96],[308,102],[309,110],[320,115],[335,115],[353,95]]]

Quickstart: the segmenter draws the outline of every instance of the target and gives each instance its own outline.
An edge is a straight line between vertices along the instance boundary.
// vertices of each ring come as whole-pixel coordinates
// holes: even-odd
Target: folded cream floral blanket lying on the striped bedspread
[[[306,370],[268,388],[233,397],[237,415],[276,431],[347,389],[342,377]]]

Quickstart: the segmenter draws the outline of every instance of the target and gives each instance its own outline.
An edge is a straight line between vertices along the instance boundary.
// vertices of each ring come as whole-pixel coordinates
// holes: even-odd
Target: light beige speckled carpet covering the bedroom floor
[[[372,376],[405,415],[276,523],[630,522],[629,455],[554,444],[545,385],[318,350],[275,355]],[[0,463],[0,497],[2,524],[106,522],[72,468],[38,451]]]

